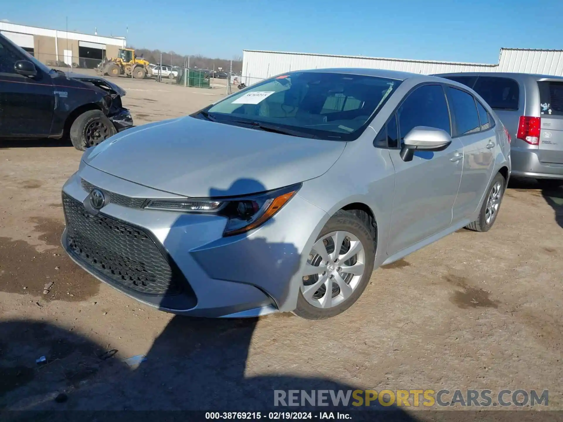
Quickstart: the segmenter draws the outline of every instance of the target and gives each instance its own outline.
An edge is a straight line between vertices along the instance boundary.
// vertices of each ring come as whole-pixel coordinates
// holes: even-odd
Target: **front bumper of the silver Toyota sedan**
[[[81,165],[81,169],[63,187],[63,203],[66,197],[87,214],[96,212],[89,205],[89,192],[82,187],[82,178],[111,195],[176,197]],[[252,317],[276,311],[292,311],[296,307],[301,285],[299,269],[306,261],[302,251],[309,250],[306,248],[311,247],[312,238],[328,219],[324,211],[296,195],[274,218],[257,230],[245,235],[223,237],[226,218],[221,216],[145,210],[124,206],[113,199],[111,201],[99,214],[110,220],[110,226],[114,226],[111,228],[113,231],[106,232],[105,237],[115,239],[115,232],[124,233],[127,230],[131,235],[136,229],[146,233],[177,271],[173,271],[175,275],[171,278],[171,284],[172,280],[182,284],[181,293],[168,294],[168,291],[175,291],[172,286],[157,293],[147,293],[146,289],[140,291],[144,289],[139,290],[131,285],[131,280],[116,280],[114,275],[109,274],[108,268],[116,270],[115,266],[102,269],[100,262],[92,262],[92,256],[87,258],[77,252],[75,243],[72,244],[77,235],[77,225],[72,218],[69,220],[69,210],[65,205],[67,227],[62,236],[62,246],[73,261],[97,279],[149,306],[172,313],[205,317]],[[300,218],[296,219],[295,216]],[[81,234],[80,230],[78,227],[78,235],[83,235],[92,248],[96,249],[97,243],[104,242],[104,236],[93,239],[87,232]],[[147,263],[158,261],[150,257],[141,259],[139,256],[142,253],[135,247],[120,246],[113,240],[103,248],[106,252],[108,248],[113,251],[110,264],[127,261],[127,268],[134,268],[133,272],[140,268],[140,263],[146,266]],[[162,257],[159,259],[162,261]],[[150,268],[146,271],[151,272]],[[127,279],[131,272],[124,274]]]

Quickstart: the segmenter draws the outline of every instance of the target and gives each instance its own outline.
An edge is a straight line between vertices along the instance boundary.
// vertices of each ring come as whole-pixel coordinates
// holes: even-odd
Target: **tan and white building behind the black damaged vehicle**
[[[7,22],[0,22],[0,33],[42,62],[64,62],[69,66],[93,67],[104,56],[115,57],[119,48],[126,46],[123,37],[101,37]]]

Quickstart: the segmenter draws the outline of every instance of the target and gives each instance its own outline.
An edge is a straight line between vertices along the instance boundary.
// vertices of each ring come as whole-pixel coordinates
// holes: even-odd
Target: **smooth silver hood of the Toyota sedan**
[[[83,160],[177,195],[230,196],[318,177],[345,146],[186,116],[128,129],[87,150]]]

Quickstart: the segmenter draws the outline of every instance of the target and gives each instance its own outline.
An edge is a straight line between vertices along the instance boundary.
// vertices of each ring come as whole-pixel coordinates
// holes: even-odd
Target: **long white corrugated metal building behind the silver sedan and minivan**
[[[250,85],[291,70],[321,68],[371,68],[422,74],[482,71],[563,76],[563,50],[501,48],[498,64],[244,50],[242,80]]]

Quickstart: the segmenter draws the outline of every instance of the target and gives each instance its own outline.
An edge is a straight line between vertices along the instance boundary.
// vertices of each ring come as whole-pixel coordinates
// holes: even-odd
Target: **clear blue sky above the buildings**
[[[230,59],[242,50],[497,63],[499,48],[563,49],[563,1],[1,0],[0,20],[125,35]]]

